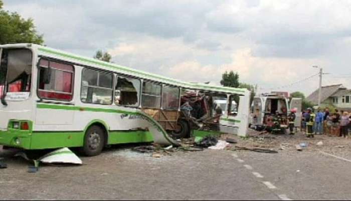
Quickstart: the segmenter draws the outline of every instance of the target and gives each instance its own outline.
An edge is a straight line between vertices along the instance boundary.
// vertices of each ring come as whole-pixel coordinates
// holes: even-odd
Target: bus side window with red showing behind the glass
[[[45,99],[71,100],[73,97],[72,65],[40,60],[38,96]]]

